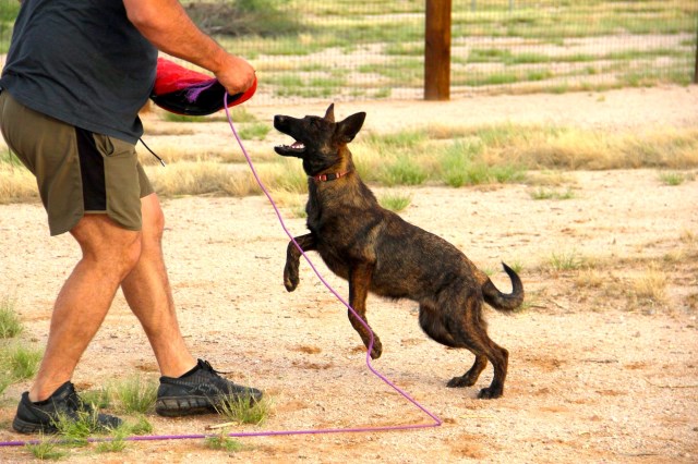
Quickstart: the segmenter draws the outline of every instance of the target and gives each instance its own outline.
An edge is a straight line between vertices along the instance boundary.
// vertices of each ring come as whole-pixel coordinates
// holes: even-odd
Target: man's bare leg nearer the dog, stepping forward
[[[196,365],[181,335],[163,257],[165,219],[156,194],[141,199],[141,258],[121,283],[129,306],[153,346],[160,373],[179,377]]]

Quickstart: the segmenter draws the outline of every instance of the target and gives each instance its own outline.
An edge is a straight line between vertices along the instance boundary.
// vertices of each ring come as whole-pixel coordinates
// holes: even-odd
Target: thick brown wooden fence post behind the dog
[[[426,0],[424,34],[424,99],[450,98],[452,0]]]

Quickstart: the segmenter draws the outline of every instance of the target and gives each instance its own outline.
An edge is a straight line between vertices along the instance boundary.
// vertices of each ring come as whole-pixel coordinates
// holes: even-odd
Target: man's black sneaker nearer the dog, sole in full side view
[[[198,359],[196,366],[182,377],[160,377],[155,412],[177,417],[215,413],[225,402],[262,400],[262,392],[243,387],[219,376],[208,362]]]

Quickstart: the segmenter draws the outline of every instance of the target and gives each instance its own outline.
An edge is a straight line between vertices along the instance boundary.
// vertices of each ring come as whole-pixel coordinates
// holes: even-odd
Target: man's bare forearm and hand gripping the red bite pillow
[[[20,0],[22,1],[22,0]],[[254,70],[204,34],[177,0],[123,0],[129,20],[159,50],[216,75],[228,94],[250,88]]]

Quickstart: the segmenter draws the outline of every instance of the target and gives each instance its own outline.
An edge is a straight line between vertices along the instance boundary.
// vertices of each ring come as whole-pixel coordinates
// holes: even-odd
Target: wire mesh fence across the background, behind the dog
[[[257,70],[257,103],[419,99],[425,0],[186,1]],[[16,0],[0,0],[5,53]],[[563,93],[696,77],[698,0],[452,0],[450,95]],[[0,58],[0,64],[3,58]]]

